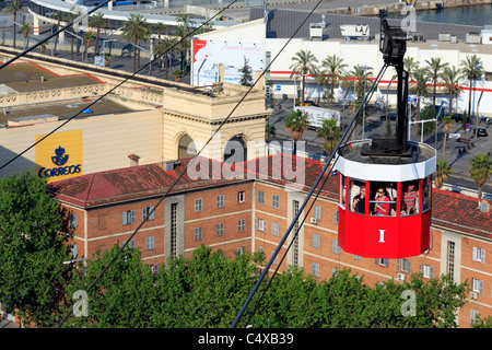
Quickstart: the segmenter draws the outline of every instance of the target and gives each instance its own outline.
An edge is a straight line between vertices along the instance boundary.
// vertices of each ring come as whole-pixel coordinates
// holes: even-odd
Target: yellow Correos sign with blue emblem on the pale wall
[[[36,173],[48,183],[82,175],[82,130],[55,132],[36,144]]]

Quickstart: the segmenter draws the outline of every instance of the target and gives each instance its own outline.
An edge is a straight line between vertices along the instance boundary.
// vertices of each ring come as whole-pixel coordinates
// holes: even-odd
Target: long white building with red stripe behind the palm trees
[[[255,11],[258,10],[258,11]],[[290,39],[290,36],[297,28],[297,25],[308,15],[307,12],[280,11],[274,10],[268,21],[262,18],[261,9],[251,9],[250,22],[235,25],[233,27],[209,32],[197,36],[197,39],[224,42],[227,45],[233,43],[256,44],[263,48],[266,80],[273,83],[273,94],[278,98],[293,97],[298,89],[301,77],[291,78],[292,57],[300,50],[309,50],[317,59],[319,66],[327,56],[337,55],[343,58],[348,65],[347,70],[353,70],[354,66],[365,66],[371,72],[372,80],[384,66],[383,55],[379,51],[379,19],[361,18],[335,14],[313,14],[302,26],[301,31]],[[311,35],[311,24],[318,23],[323,27],[323,36]],[[396,22],[398,23],[398,22]],[[348,40],[342,37],[340,25],[364,24],[371,26],[368,38]],[[395,24],[394,24],[395,25]],[[366,26],[364,26],[366,27]],[[479,115],[492,116],[492,45],[476,44],[469,38],[469,33],[480,33],[481,27],[464,26],[438,23],[417,23],[415,42],[410,40],[407,46],[406,57],[413,57],[420,67],[425,67],[426,60],[438,57],[449,67],[460,67],[460,62],[467,56],[477,55],[483,62],[483,74],[481,80],[475,84],[472,94],[472,109],[479,110]],[[482,32],[483,33],[483,32]],[[446,34],[446,35],[443,35]],[[449,34],[449,35],[447,35]],[[311,37],[309,37],[311,36]],[[226,62],[227,55],[222,56]],[[269,63],[271,62],[271,66]],[[200,61],[195,61],[200,65]],[[395,70],[388,68],[382,77],[377,92],[373,95],[373,102],[388,101],[390,105],[396,105],[396,79]],[[370,78],[371,79],[371,78]],[[390,84],[391,82],[391,84]],[[196,82],[194,82],[196,83]],[[429,81],[429,84],[432,84]],[[454,108],[458,112],[468,109],[469,82],[460,82],[462,93],[454,100]],[[389,89],[388,89],[389,88]],[[319,86],[313,77],[307,77],[305,98],[319,101],[327,92],[326,86]],[[354,94],[338,89],[335,97],[338,101],[347,98],[351,101]],[[431,102],[430,98],[422,98],[423,104]],[[436,103],[443,101],[445,107],[448,106],[449,96],[444,89],[438,89]]]

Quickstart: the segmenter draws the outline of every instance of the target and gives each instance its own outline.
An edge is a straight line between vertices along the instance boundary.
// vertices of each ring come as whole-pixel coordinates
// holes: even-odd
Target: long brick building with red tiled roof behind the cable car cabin
[[[154,268],[172,255],[190,256],[201,244],[226,255],[261,249],[270,259],[324,166],[309,159],[297,163],[289,154],[246,162],[244,168],[200,160],[200,166],[207,165],[200,178],[190,173],[196,166],[186,159],[52,183],[55,197],[72,215],[77,257],[122,244],[155,208],[130,243],[141,248],[142,259]],[[288,176],[285,164],[303,170],[303,183]],[[235,176],[225,176],[231,171]],[[405,280],[414,272],[424,278],[450,273],[456,282],[468,281],[472,289],[458,315],[459,326],[470,327],[478,313],[492,315],[492,262],[487,259],[487,252],[492,250],[491,214],[478,208],[477,198],[446,190],[434,188],[432,200],[429,252],[406,259],[364,258],[338,246],[338,176],[330,175],[309,213],[311,202],[300,217],[302,221],[306,215],[286,264],[302,266],[318,279],[350,268],[368,284]],[[272,268],[280,264],[294,231],[295,226]],[[280,271],[285,268],[282,264]]]

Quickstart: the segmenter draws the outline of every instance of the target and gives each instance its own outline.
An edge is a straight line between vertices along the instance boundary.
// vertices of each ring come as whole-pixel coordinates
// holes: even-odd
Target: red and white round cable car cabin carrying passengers
[[[436,151],[408,141],[409,158],[363,155],[367,143],[371,140],[355,141],[338,152],[338,244],[362,257],[420,255],[431,244]]]

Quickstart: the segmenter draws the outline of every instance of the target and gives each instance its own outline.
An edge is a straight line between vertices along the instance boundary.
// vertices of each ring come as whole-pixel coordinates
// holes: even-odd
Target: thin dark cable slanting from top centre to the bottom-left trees
[[[230,5],[232,5],[235,1],[231,2],[227,8]],[[222,129],[222,127],[225,125],[225,122],[231,118],[231,116],[234,114],[234,112],[238,108],[238,106],[243,103],[243,101],[247,97],[247,95],[251,92],[251,90],[256,86],[256,84],[262,79],[262,77],[265,75],[265,73],[270,69],[270,66],[278,59],[278,57],[280,56],[280,54],[282,54],[282,51],[285,49],[285,47],[290,44],[290,42],[294,38],[294,36],[297,34],[297,32],[301,30],[301,27],[304,25],[304,23],[306,23],[306,21],[309,19],[311,14],[317,9],[317,7],[321,3],[321,0],[318,1],[318,3],[314,7],[314,9],[309,12],[309,14],[306,16],[306,19],[298,25],[298,27],[296,28],[296,31],[291,35],[291,37],[285,42],[285,44],[281,47],[281,49],[279,50],[279,52],[273,57],[273,59],[270,61],[270,63],[263,69],[263,71],[261,72],[261,74],[259,74],[259,77],[256,79],[256,81],[251,84],[251,86],[249,86],[249,89],[246,91],[246,93],[242,96],[242,98],[237,102],[237,104],[234,106],[234,108],[230,112],[230,114],[224,118],[224,120],[222,120],[222,122],[220,124],[220,126],[218,127],[218,129],[212,133],[212,136],[209,138],[209,140],[203,144],[203,147],[200,149],[200,151],[194,156],[194,159],[188,163],[188,165],[186,165],[186,167],[183,170],[183,172],[176,177],[176,179],[173,182],[173,184],[167,188],[167,190],[165,191],[165,194],[163,196],[161,196],[161,198],[159,199],[159,201],[155,203],[154,208],[150,210],[150,212],[148,213],[148,215],[145,217],[144,220],[142,220],[142,222],[138,225],[138,228],[134,230],[134,232],[130,235],[130,237],[121,245],[121,247],[118,249],[118,252],[116,253],[116,255],[109,260],[109,262],[103,268],[103,270],[99,272],[99,275],[94,279],[94,281],[89,285],[89,288],[85,290],[86,293],[89,293],[94,285],[96,284],[96,282],[103,277],[103,275],[106,272],[106,270],[109,268],[110,265],[114,264],[114,261],[116,261],[116,258],[121,254],[121,252],[125,250],[125,248],[127,247],[127,245],[129,244],[129,242],[133,238],[133,236],[140,231],[140,229],[143,226],[143,224],[148,221],[148,219],[152,215],[152,213],[157,209],[157,207],[163,202],[163,200],[167,197],[167,195],[169,194],[169,191],[174,188],[174,186],[176,186],[176,184],[179,182],[179,179],[184,176],[184,174],[187,172],[188,167],[190,166],[190,164],[194,164],[195,160],[201,154],[201,152],[207,148],[207,145],[212,141],[213,137]],[[226,8],[224,8],[225,10]],[[223,10],[222,10],[223,11]],[[219,15],[219,12],[216,15]],[[213,19],[213,18],[212,18]],[[211,21],[212,19],[210,19],[209,21]],[[147,67],[147,66],[145,66]],[[1,168],[0,168],[1,170]],[[70,312],[63,317],[63,319],[60,322],[60,324],[58,325],[58,328],[60,328],[66,322],[67,319],[70,317],[70,314],[73,310],[73,304],[70,306]]]

